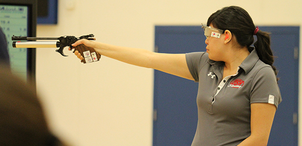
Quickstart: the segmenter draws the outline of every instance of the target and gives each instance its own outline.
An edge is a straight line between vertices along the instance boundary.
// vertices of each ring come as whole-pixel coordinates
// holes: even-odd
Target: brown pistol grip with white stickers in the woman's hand
[[[81,53],[81,55],[84,57],[84,59],[81,60],[81,62],[83,63],[95,62],[100,58],[100,54],[98,54],[92,47],[87,47],[83,44],[80,44],[74,47],[73,52],[75,52],[76,50],[79,51],[79,53]]]

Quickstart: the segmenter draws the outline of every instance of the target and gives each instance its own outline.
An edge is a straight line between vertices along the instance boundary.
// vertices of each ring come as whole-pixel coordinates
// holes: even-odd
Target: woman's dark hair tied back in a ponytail
[[[241,47],[247,47],[254,43],[254,32],[256,27],[249,14],[242,8],[230,6],[222,8],[213,13],[207,25],[213,25],[221,30],[229,30],[235,35],[238,44]],[[270,35],[268,32],[259,30],[256,33],[257,41],[254,43],[259,59],[272,66],[277,76],[277,69],[273,65],[274,56],[270,47]],[[278,79],[277,79],[278,81]]]

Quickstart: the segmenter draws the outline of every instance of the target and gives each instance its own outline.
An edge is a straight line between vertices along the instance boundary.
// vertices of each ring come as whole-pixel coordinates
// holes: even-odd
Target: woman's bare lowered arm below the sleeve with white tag
[[[268,103],[253,103],[250,105],[250,110],[251,134],[239,145],[267,145],[276,107]]]

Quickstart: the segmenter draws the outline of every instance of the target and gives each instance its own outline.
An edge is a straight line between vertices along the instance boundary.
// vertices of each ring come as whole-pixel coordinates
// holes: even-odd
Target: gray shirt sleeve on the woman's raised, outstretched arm
[[[186,53],[188,68],[195,82],[199,81],[198,74],[201,69],[200,64],[204,64],[209,59],[206,52]]]

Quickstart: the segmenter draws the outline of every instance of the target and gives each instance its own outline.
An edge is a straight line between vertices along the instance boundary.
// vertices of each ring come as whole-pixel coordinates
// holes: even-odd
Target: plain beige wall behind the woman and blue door
[[[153,51],[155,25],[200,25],[231,5],[257,25],[302,22],[299,0],[59,0],[58,24],[38,25],[37,36],[92,33],[97,41]],[[104,56],[82,64],[67,48],[65,54],[37,49],[37,91],[54,132],[74,145],[152,145],[153,70]]]

